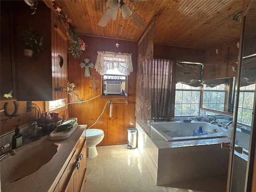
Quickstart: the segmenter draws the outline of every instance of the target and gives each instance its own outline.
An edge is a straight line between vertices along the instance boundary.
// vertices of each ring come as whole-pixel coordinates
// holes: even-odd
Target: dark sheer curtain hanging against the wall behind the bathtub
[[[156,121],[169,121],[172,110],[173,67],[175,60],[154,58],[152,64],[151,116]]]

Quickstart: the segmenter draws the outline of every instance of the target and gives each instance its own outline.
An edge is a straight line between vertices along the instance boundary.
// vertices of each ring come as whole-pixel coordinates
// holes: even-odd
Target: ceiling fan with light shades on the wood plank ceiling
[[[140,0],[130,0],[131,2]],[[109,19],[116,19],[118,9],[121,9],[124,19],[130,19],[138,28],[143,28],[146,23],[138,16],[138,14],[130,7],[124,4],[123,0],[108,0],[108,7],[98,22],[98,26],[105,27]]]

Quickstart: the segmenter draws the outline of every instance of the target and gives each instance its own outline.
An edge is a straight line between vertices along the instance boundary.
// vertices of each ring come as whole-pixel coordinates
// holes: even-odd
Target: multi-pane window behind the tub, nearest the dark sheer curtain
[[[196,116],[199,113],[200,87],[178,82],[175,92],[174,116]]]

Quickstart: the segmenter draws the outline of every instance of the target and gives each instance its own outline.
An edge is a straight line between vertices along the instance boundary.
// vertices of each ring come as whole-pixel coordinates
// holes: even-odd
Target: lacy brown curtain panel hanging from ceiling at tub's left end
[[[136,123],[150,137],[154,19],[138,42]]]

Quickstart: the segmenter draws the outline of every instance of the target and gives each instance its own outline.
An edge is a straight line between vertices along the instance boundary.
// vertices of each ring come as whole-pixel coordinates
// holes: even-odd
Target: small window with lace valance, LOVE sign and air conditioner
[[[100,52],[95,64],[102,75],[102,94],[126,95],[127,76],[132,72],[132,54]]]

